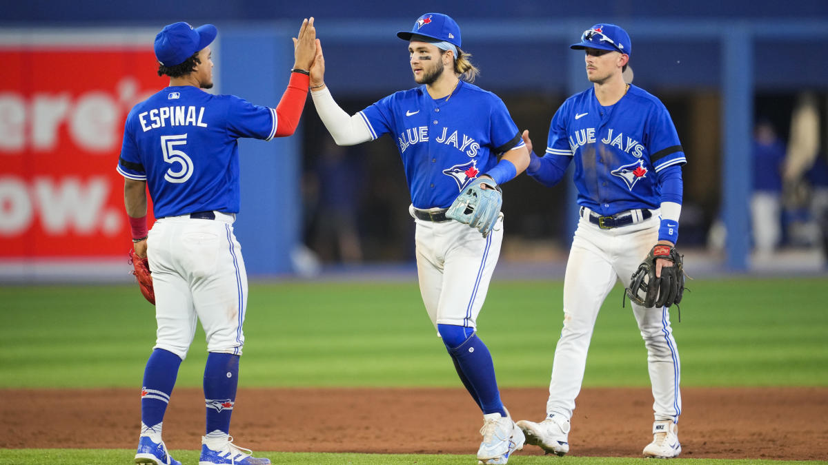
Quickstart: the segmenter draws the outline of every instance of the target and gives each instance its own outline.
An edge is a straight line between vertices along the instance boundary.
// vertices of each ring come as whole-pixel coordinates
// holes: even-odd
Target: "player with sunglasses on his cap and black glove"
[[[541,423],[517,424],[527,443],[546,452],[569,451],[567,434],[575,397],[584,379],[586,352],[595,319],[617,279],[633,271],[656,243],[676,244],[681,213],[681,165],[684,151],[670,114],[658,98],[625,84],[632,46],[627,32],[596,24],[573,49],[586,50],[590,89],[568,98],[552,117],[546,154],[532,155],[527,173],[543,185],[555,185],[575,162],[580,222],[570,249],[564,280],[564,324],[555,351]],[[523,140],[532,147],[528,132]],[[658,259],[657,276],[671,261]],[[647,366],[655,398],[653,441],[645,457],[681,453],[679,364],[667,308],[633,304],[647,347]]]

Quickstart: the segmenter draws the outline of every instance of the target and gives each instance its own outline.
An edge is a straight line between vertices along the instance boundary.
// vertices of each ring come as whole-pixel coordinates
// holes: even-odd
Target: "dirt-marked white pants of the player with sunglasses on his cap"
[[[584,380],[587,350],[595,319],[616,280],[628,284],[630,276],[658,240],[660,218],[621,228],[601,229],[585,215],[578,228],[566,263],[564,279],[564,324],[555,350],[546,413],[572,417],[575,397]],[[652,405],[656,420],[681,415],[681,363],[672,335],[667,309],[645,309],[637,304],[633,315],[647,348],[647,368],[652,383]]]

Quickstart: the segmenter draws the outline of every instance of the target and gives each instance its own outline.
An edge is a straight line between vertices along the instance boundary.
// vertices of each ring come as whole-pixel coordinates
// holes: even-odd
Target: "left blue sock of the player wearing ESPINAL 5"
[[[164,421],[166,405],[170,402],[172,388],[176,386],[178,367],[181,367],[181,357],[161,348],[152,351],[144,369],[141,390],[141,434],[161,437],[161,423]]]

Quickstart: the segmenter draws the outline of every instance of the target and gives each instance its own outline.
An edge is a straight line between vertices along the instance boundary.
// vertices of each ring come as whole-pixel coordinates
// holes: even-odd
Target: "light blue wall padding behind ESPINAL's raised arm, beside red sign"
[[[221,93],[276,107],[293,65],[291,31],[277,26],[223,27],[214,55]],[[301,227],[300,141],[296,136],[238,141],[242,208],[235,232],[250,276],[293,271],[290,252],[299,242]]]

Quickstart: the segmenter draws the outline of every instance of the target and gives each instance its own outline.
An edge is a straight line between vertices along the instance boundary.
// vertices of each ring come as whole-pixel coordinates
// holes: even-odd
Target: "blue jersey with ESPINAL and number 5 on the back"
[[[145,180],[156,218],[238,213],[238,138],[270,140],[273,108],[193,86],[172,86],[127,116],[118,173]]]

